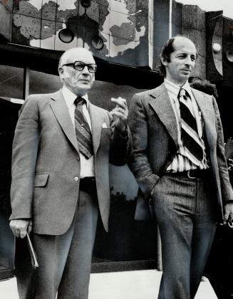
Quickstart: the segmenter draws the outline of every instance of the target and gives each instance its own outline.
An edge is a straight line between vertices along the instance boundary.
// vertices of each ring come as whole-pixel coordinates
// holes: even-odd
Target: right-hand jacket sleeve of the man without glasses
[[[217,103],[214,97],[213,99],[213,106],[215,115],[217,117],[217,162],[219,166],[219,177],[221,182],[221,191],[222,191],[222,201],[223,204],[226,201],[232,201],[233,203],[233,192],[232,186],[229,182],[229,172],[227,168],[227,160],[225,157],[224,151],[224,137],[223,137],[223,130],[222,130],[222,122],[219,115],[219,109],[217,107]]]

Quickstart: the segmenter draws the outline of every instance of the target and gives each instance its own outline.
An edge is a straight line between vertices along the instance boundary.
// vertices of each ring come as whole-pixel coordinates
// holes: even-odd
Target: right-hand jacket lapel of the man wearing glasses
[[[101,136],[101,130],[102,130],[102,125],[104,120],[98,108],[91,103],[89,105],[89,114],[90,114],[90,122],[91,122],[93,150],[94,150],[94,154],[96,154],[98,147],[100,145],[100,136]]]

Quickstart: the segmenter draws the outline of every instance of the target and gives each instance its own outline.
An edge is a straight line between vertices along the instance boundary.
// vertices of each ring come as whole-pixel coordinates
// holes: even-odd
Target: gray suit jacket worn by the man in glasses
[[[108,231],[109,162],[125,164],[131,135],[114,130],[107,110],[89,106],[100,216]],[[107,125],[103,126],[103,123]],[[16,126],[12,155],[10,219],[33,219],[36,234],[63,234],[78,201],[80,159],[76,132],[61,90],[26,99]]]

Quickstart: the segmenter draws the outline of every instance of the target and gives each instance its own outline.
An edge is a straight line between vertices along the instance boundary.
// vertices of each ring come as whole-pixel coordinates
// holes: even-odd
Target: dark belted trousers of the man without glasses
[[[212,178],[164,175],[152,189],[162,243],[159,299],[195,297],[217,221]]]

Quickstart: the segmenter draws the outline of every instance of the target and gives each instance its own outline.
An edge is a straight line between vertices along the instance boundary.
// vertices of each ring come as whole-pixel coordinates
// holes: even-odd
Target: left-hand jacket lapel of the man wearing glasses
[[[71,116],[69,115],[68,108],[61,90],[58,90],[57,93],[54,93],[51,98],[53,102],[50,105],[53,113],[56,116],[59,124],[61,125],[63,132],[68,137],[68,140],[70,140],[73,147],[75,147],[76,151],[78,152],[76,132],[74,130]]]

